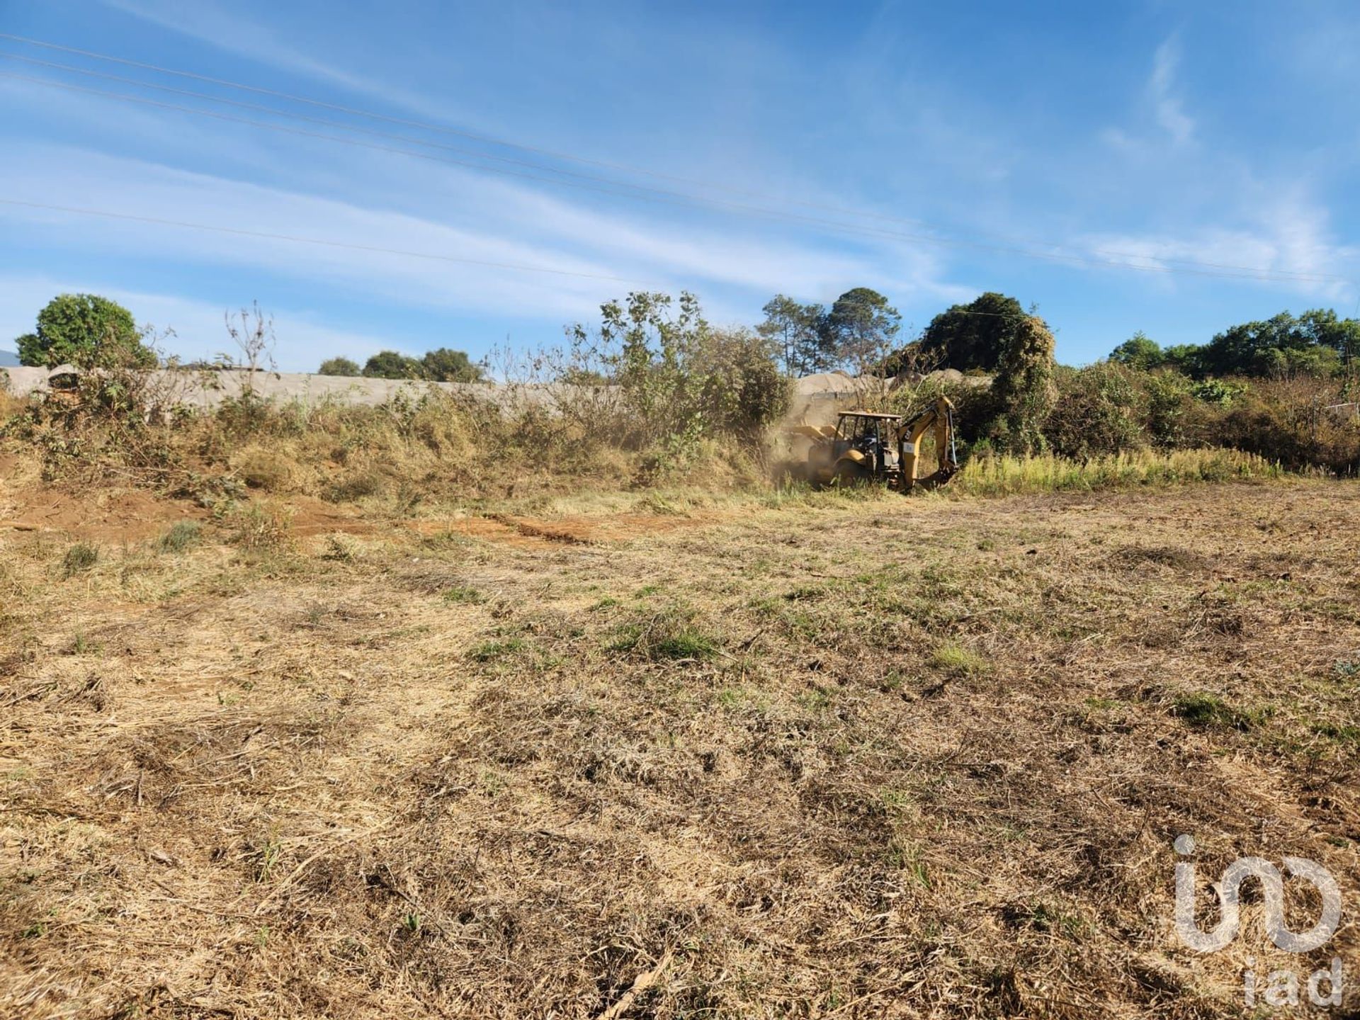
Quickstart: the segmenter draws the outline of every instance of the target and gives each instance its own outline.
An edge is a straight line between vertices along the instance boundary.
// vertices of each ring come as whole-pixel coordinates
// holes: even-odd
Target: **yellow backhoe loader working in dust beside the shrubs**
[[[921,441],[934,430],[938,468],[919,477]],[[812,441],[805,477],[816,486],[860,486],[883,481],[898,492],[942,486],[959,469],[953,435],[953,404],[940,397],[911,419],[869,411],[842,411],[835,427],[797,426],[789,430]]]

